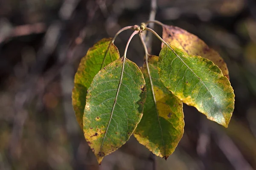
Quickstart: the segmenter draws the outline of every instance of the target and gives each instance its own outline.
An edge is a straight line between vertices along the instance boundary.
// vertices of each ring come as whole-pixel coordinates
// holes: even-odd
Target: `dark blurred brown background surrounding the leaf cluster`
[[[99,167],[76,122],[73,78],[87,49],[149,18],[150,0],[0,0],[0,170],[256,169],[256,2],[157,0],[156,20],[186,29],[227,62],[236,94],[226,129],[184,106],[167,161],[132,136]],[[162,29],[154,29],[161,35]],[[131,30],[115,44],[123,55]],[[153,37],[152,54],[160,52]],[[128,58],[143,64],[138,36]]]

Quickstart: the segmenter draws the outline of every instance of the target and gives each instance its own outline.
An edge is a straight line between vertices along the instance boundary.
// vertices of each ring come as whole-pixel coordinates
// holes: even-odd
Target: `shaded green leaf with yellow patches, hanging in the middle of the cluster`
[[[183,135],[184,115],[180,99],[166,89],[160,80],[157,61],[157,56],[149,56],[150,74],[148,74],[146,63],[143,65],[142,72],[147,86],[147,98],[143,117],[134,136],[140,144],[143,144],[156,156],[167,158],[173,153]]]

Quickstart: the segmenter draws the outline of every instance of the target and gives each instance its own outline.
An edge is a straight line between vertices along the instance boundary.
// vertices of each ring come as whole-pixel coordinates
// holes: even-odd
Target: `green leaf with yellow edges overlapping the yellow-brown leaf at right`
[[[208,119],[227,127],[235,95],[218,66],[206,58],[164,45],[157,67],[163,84],[183,103],[194,106]]]

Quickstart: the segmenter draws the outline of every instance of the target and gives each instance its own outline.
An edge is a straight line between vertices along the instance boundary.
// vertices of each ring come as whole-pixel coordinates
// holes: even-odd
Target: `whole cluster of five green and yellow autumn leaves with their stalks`
[[[134,134],[157,156],[168,158],[183,131],[183,103],[208,119],[228,126],[234,109],[234,92],[221,56],[203,40],[185,30],[163,27],[163,36],[145,25],[128,26],[134,33],[120,58],[116,36],[104,38],[81,59],[75,75],[73,109],[84,137],[99,164]],[[149,55],[143,32],[162,42],[159,56]],[[140,69],[126,58],[131,38],[139,34],[145,49]]]

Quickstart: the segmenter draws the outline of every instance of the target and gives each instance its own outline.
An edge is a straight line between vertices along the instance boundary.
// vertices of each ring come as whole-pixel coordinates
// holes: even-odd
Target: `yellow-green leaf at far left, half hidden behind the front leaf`
[[[77,69],[74,89],[72,92],[72,104],[76,113],[76,119],[83,129],[83,115],[87,89],[94,76],[104,66],[120,58],[118,49],[111,42],[112,38],[103,38],[91,47],[81,59]]]

